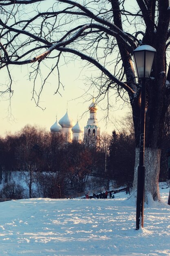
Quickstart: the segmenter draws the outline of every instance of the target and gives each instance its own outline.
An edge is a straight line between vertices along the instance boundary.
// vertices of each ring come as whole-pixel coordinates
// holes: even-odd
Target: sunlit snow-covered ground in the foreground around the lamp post
[[[124,192],[115,199],[35,198],[0,203],[0,256],[170,256],[169,189],[164,202],[136,207]]]

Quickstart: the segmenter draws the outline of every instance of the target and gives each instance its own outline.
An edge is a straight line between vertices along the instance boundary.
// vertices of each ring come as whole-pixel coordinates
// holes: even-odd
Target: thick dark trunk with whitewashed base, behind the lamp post
[[[145,202],[159,201],[159,169],[161,158],[161,143],[163,138],[163,121],[168,104],[163,100],[165,92],[160,92],[161,82],[147,84],[146,123],[145,123]],[[158,92],[159,91],[159,92]],[[138,103],[137,103],[138,101]],[[133,191],[137,190],[137,166],[139,165],[140,143],[140,97],[132,104],[135,128],[136,156]]]

